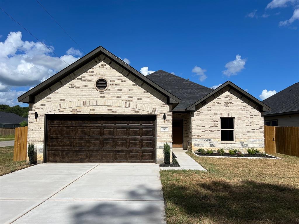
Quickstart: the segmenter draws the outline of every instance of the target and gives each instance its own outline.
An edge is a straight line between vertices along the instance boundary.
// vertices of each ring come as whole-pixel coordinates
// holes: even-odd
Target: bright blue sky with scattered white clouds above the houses
[[[299,82],[298,0],[39,2],[86,53],[101,45],[138,71],[230,80],[258,99]],[[68,64],[84,55],[38,2],[0,7]],[[67,64],[1,10],[0,21],[0,104],[15,105]]]

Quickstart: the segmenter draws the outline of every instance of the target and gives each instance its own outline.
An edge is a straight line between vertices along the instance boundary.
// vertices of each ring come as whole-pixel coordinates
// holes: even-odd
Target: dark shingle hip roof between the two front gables
[[[186,109],[188,106],[213,91],[213,89],[191,82],[187,79],[183,79],[163,70],[151,73],[147,75],[147,78],[181,99],[181,102],[175,109]]]

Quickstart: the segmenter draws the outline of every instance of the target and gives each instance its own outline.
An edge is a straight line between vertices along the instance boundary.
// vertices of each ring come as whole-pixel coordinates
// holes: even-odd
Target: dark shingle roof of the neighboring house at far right
[[[271,107],[271,111],[264,112],[264,115],[299,111],[299,82],[262,102]]]

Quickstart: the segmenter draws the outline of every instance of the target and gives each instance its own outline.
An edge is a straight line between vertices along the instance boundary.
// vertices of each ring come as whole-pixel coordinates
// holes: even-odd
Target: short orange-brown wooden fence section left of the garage
[[[28,126],[15,129],[15,146],[13,161],[26,160],[27,157],[27,132]]]

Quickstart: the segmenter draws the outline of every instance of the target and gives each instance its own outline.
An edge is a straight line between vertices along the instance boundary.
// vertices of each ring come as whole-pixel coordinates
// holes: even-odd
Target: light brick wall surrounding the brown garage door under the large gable
[[[94,88],[99,78],[107,80],[106,91]],[[38,119],[34,119],[34,112]],[[164,142],[172,145],[172,108],[167,98],[104,56],[38,94],[35,103],[29,105],[28,142],[35,143],[39,161],[44,153],[45,114],[156,115],[157,163],[164,160]],[[161,126],[168,131],[161,132]]]

